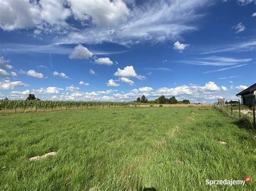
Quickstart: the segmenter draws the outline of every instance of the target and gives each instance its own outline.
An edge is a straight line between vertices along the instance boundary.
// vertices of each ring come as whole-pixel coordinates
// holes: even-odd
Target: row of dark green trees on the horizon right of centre
[[[134,102],[137,103],[157,103],[157,104],[177,104],[177,103],[184,103],[184,104],[190,104],[189,100],[183,100],[178,101],[175,96],[172,96],[170,98],[165,97],[164,95],[158,97],[156,100],[148,101],[146,96],[143,95],[142,97],[138,97],[137,100],[134,100]]]

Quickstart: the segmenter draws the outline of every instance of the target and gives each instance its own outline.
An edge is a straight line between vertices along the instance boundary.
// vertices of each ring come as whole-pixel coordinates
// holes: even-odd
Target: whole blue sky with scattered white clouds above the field
[[[0,0],[0,99],[213,103],[255,82],[255,0]]]

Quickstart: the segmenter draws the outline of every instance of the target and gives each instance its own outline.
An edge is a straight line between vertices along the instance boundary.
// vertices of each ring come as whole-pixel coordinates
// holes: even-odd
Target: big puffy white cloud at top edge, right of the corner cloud
[[[126,22],[129,9],[121,0],[68,0],[75,18],[81,21],[92,19],[100,26],[111,26]]]

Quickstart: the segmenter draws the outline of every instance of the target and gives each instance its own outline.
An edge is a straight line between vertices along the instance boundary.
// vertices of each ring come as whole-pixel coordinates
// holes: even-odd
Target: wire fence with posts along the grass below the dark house
[[[250,121],[251,124],[255,126],[255,104],[253,104],[253,107],[248,107],[246,105],[242,105],[240,100],[231,100],[225,104],[219,104],[218,102],[215,102],[214,107],[226,112],[228,115],[234,118],[246,118],[248,121]]]

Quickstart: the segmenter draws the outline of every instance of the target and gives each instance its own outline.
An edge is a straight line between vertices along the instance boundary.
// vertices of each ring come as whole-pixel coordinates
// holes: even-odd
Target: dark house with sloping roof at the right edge
[[[255,95],[256,83],[237,94],[238,97],[241,97],[241,103],[248,106],[253,106],[253,101],[256,103]]]

